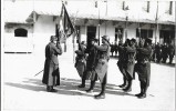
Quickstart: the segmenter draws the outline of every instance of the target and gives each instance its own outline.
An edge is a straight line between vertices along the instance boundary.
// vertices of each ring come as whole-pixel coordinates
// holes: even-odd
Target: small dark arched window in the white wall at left
[[[28,31],[23,28],[18,28],[14,30],[14,37],[28,37]]]

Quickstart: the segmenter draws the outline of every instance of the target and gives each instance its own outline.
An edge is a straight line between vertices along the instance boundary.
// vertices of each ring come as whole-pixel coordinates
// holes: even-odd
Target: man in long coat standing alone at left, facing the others
[[[54,85],[60,85],[60,70],[58,54],[62,54],[62,48],[56,42],[56,37],[51,36],[50,43],[45,47],[45,62],[42,82],[46,84],[46,91],[55,92]]]

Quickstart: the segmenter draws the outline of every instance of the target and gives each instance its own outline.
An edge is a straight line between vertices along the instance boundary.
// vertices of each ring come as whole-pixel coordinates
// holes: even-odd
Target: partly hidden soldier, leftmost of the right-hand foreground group
[[[122,43],[118,44],[118,61],[117,61],[117,67],[123,75],[123,84],[118,85],[120,88],[124,88],[127,84],[126,80],[126,72],[124,68],[124,62],[125,62],[125,50],[124,48],[127,46],[127,42],[130,39],[126,39],[125,43],[122,46]]]

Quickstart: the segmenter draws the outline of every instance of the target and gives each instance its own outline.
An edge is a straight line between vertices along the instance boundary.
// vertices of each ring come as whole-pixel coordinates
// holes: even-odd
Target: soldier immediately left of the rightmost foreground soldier
[[[136,48],[135,48],[135,39],[128,40],[127,46],[124,48],[125,50],[125,62],[124,62],[124,69],[125,69],[125,78],[127,80],[127,87],[123,89],[125,92],[132,91],[132,80],[134,79],[134,64],[135,64],[135,54],[136,54]]]

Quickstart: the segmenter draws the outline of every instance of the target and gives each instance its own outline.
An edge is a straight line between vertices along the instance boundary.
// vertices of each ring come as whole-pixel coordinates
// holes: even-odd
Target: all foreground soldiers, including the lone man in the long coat
[[[46,91],[55,92],[55,85],[60,85],[60,70],[58,56],[62,54],[62,48],[55,36],[51,36],[50,43],[45,47],[45,63],[42,82],[46,84]],[[151,59],[152,59],[152,40],[146,39],[136,47],[135,39],[126,39],[124,44],[118,46],[117,67],[123,74],[123,84],[118,85],[123,91],[132,91],[132,81],[135,79],[135,72],[138,73],[141,83],[141,93],[135,94],[137,98],[146,98],[146,91],[149,85],[151,78]],[[91,44],[79,42],[76,53],[75,68],[82,79],[79,88],[85,88],[85,81],[91,80],[90,88],[85,90],[87,93],[93,92],[95,81],[101,82],[101,92],[95,94],[95,99],[105,98],[105,89],[107,83],[107,68],[111,53],[110,37],[102,37],[102,44],[99,40],[91,39]],[[135,62],[136,61],[136,62]]]

